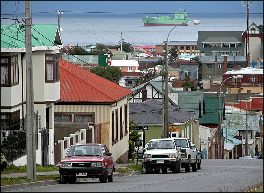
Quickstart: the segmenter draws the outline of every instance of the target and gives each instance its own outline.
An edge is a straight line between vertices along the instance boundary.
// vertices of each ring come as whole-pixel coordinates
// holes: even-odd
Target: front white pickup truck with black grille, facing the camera
[[[147,149],[143,149],[145,150],[142,163],[143,174],[150,174],[153,170],[155,174],[158,174],[160,168],[162,173],[167,173],[168,168],[173,173],[180,173],[180,147],[174,139],[151,139]]]

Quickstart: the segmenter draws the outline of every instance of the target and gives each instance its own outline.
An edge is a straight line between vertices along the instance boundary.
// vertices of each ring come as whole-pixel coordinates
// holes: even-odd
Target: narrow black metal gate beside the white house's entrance
[[[49,165],[49,132],[48,128],[41,131],[41,165],[47,167]]]

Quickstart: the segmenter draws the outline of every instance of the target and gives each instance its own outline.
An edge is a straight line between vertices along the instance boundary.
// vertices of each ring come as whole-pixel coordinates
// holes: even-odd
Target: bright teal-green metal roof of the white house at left
[[[32,25],[32,47],[62,45],[57,25]],[[1,25],[1,48],[25,48],[25,25]]]

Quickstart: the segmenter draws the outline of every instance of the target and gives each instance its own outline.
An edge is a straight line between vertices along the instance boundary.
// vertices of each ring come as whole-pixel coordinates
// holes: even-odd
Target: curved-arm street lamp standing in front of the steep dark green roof
[[[243,78],[243,75],[240,74],[240,75],[236,75],[236,76],[231,76],[229,78]],[[220,90],[218,91],[218,159],[222,159],[222,133],[221,133],[221,103],[220,103],[220,96],[221,96],[221,88],[222,88],[222,85],[223,83],[229,79],[229,78],[226,78],[221,86],[220,86]]]

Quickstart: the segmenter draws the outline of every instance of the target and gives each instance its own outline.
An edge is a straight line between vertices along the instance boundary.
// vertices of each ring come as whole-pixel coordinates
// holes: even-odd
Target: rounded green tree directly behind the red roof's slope
[[[122,76],[122,71],[119,70],[117,66],[107,66],[106,68],[104,66],[98,66],[96,68],[91,68],[90,71],[110,81],[113,81],[113,78],[115,77],[117,78],[116,79],[117,84],[120,77]]]

